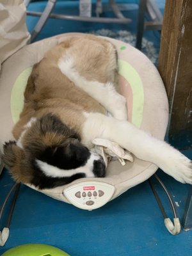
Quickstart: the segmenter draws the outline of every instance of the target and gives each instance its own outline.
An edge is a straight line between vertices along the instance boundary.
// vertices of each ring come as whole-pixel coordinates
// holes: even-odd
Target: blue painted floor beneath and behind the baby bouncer
[[[70,3],[75,4],[75,2]],[[41,4],[33,3],[29,7],[38,9]],[[72,4],[69,4],[68,8],[74,11]],[[131,12],[130,15],[136,19],[136,10]],[[66,31],[87,32],[95,29],[93,24],[82,23],[77,26],[76,23],[72,26],[71,22],[63,20],[57,24],[52,24],[52,21],[49,20],[49,26],[45,26],[37,40]],[[32,25],[30,18],[29,30]],[[110,29],[113,29],[113,26]],[[133,27],[131,29],[134,30]],[[157,42],[156,35],[154,34],[154,37],[150,35],[153,42]],[[184,154],[192,159],[191,150],[185,151]],[[158,171],[158,174],[176,202],[177,212],[182,220],[189,186],[180,184],[161,171]],[[0,176],[0,205],[12,184],[12,179],[4,170],[3,175]],[[172,218],[171,207],[157,182],[156,189],[166,213]],[[0,228],[6,220],[8,208],[9,205],[6,205],[6,213],[1,220]],[[112,202],[94,211],[77,209],[73,205],[53,200],[26,186],[21,186],[10,225],[10,238],[6,245],[0,248],[0,255],[13,246],[25,243],[51,244],[72,256],[189,256],[192,255],[192,230],[188,232],[182,230],[178,236],[168,233],[148,181],[129,189]]]

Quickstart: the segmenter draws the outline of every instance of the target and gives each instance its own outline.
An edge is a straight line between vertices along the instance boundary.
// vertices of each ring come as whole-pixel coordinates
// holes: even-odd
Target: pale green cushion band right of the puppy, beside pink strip
[[[141,127],[143,119],[144,92],[138,72],[124,60],[118,60],[119,74],[127,80],[132,89],[132,124]]]

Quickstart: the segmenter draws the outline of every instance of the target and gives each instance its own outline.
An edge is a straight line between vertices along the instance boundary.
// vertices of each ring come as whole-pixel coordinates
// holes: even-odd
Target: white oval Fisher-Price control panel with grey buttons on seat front
[[[67,189],[63,194],[68,201],[84,210],[93,210],[106,204],[115,191],[115,187],[104,182],[79,182]]]

